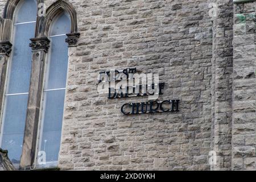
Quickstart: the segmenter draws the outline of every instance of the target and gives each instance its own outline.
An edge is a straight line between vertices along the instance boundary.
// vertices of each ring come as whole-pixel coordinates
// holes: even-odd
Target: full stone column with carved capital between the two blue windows
[[[32,72],[28,96],[23,151],[22,158],[20,160],[20,168],[22,169],[29,169],[33,167],[36,158],[36,141],[38,138],[40,103],[43,91],[44,60],[46,58],[50,42],[47,38],[34,38],[30,40],[30,47],[32,48]]]

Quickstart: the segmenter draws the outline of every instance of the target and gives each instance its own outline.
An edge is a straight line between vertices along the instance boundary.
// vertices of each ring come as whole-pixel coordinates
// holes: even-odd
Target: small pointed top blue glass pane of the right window
[[[59,18],[53,21],[51,27],[50,36],[52,35],[62,35],[71,32],[71,20],[68,14],[61,14]]]

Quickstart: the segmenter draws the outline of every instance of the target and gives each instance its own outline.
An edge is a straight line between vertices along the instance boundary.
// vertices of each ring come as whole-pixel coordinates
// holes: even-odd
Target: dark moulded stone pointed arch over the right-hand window
[[[50,27],[53,19],[55,19],[56,16],[63,13],[63,11],[68,13],[70,18],[71,18],[71,31],[70,31],[70,33],[73,34],[73,33],[77,32],[76,10],[69,3],[65,2],[65,1],[62,1],[62,0],[58,0],[55,3],[53,3],[50,7],[48,7],[48,9],[46,11],[46,17],[44,19],[43,27],[42,27],[42,30],[40,32],[42,36],[48,36],[49,29],[50,29],[49,27]]]

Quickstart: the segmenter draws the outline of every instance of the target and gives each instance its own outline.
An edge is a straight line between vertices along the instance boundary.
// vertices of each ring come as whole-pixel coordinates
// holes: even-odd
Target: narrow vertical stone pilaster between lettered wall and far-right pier
[[[230,170],[232,140],[233,1],[211,1],[213,19],[212,150],[217,164],[212,170]]]

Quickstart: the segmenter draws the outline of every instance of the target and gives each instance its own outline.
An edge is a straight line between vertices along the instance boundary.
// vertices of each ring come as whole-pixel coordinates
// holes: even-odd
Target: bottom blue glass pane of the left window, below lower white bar
[[[27,100],[28,94],[6,96],[2,148],[9,151],[11,160],[19,161],[22,154]]]

